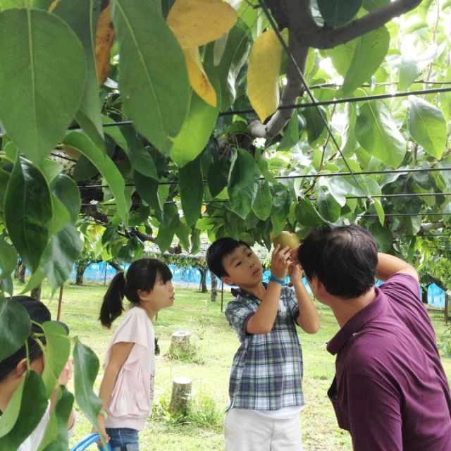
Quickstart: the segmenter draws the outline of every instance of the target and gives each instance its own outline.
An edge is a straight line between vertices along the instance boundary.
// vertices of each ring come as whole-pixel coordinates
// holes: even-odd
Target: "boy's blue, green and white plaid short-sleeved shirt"
[[[227,304],[226,318],[241,342],[233,357],[228,409],[277,410],[303,406],[302,350],[297,336],[299,307],[295,291],[283,287],[270,333],[249,334],[247,321],[260,300],[249,293],[232,290],[235,299]]]

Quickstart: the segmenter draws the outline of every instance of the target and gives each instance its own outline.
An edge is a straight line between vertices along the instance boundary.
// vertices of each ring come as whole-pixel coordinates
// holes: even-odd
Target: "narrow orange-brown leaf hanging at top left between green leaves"
[[[111,0],[99,16],[96,30],[96,71],[97,82],[101,85],[110,70],[110,54],[114,41],[113,20],[111,19]]]

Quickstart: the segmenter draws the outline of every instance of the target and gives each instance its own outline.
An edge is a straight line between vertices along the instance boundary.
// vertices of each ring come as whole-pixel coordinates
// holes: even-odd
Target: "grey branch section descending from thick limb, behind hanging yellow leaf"
[[[302,73],[304,73],[309,49],[304,47],[302,44],[299,44],[296,38],[292,37],[292,35],[290,35],[288,47],[292,53],[292,56],[295,58],[297,66],[300,68]],[[289,57],[287,62],[287,84],[283,88],[279,106],[296,104],[297,97],[302,96],[304,89],[305,88],[304,85],[302,85],[299,71],[297,70],[295,63]],[[293,111],[294,109],[282,109],[276,111],[266,125],[262,124],[260,121],[252,121],[249,123],[249,131],[254,137],[261,137],[266,140],[271,140],[273,137],[278,135],[280,130],[282,130],[286,123],[290,121]]]

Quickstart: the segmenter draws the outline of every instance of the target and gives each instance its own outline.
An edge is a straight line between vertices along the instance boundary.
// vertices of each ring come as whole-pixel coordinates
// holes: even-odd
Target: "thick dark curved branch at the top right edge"
[[[285,0],[285,16],[290,20],[290,34],[305,47],[331,49],[382,27],[421,4],[421,0],[395,0],[365,16],[338,28],[320,27],[311,15],[310,0]]]

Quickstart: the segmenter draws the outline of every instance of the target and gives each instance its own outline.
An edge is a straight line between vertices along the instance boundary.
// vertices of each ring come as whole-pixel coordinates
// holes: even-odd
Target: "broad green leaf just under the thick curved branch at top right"
[[[345,78],[343,95],[352,94],[369,80],[381,66],[389,44],[390,33],[381,27],[326,52],[335,69]]]

